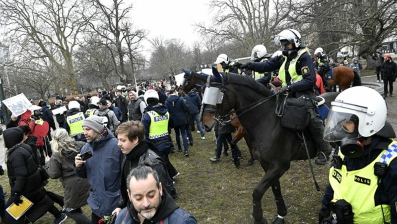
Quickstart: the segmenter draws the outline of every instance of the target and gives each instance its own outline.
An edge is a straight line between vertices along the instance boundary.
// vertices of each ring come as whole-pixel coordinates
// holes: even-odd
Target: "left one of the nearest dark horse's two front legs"
[[[264,177],[262,177],[261,181],[255,187],[254,192],[252,193],[252,198],[253,198],[252,216],[254,217],[254,224],[267,224],[266,219],[263,217],[262,202],[261,202],[262,197],[264,196],[266,190],[270,186],[275,184],[276,181],[278,181],[278,179],[284,174],[284,172],[288,170],[289,166],[290,166],[290,162],[284,164],[278,163],[278,164],[272,164],[267,170],[265,169]],[[276,190],[276,192],[278,191]],[[278,195],[276,197],[279,198]],[[280,206],[280,211],[282,212],[282,210],[283,210],[282,206]],[[277,212],[278,212],[278,208],[277,208]]]

